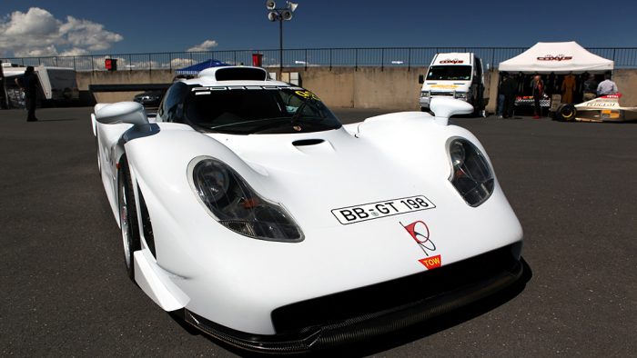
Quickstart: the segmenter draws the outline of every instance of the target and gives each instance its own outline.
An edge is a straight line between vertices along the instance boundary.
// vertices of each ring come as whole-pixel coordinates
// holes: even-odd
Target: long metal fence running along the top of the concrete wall
[[[526,47],[378,47],[378,48],[305,48],[283,50],[285,67],[423,67],[433,55],[444,52],[473,52],[486,65],[495,67],[502,61],[526,51]],[[637,68],[637,47],[592,47],[591,53],[611,59],[615,68]],[[80,55],[0,58],[17,65],[71,67],[76,71],[106,71],[105,60],[116,59],[119,71],[174,70],[214,58],[230,65],[252,65],[252,55],[262,55],[264,67],[278,67],[278,50],[232,50],[170,52],[120,55]]]

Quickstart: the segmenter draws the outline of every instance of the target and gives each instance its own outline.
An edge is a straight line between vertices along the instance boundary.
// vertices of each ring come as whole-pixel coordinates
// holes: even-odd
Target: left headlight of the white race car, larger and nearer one
[[[255,239],[298,243],[303,233],[291,215],[255,192],[232,168],[211,157],[188,164],[190,185],[219,224]]]

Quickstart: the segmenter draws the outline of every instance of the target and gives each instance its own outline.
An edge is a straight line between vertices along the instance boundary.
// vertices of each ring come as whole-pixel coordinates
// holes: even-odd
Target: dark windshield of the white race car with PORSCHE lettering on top
[[[315,94],[274,85],[191,86],[184,118],[199,130],[229,134],[319,132],[341,126]]]

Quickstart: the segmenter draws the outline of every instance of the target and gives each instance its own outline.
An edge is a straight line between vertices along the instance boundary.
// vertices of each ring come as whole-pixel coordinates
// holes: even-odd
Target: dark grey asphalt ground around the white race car
[[[188,330],[127,279],[90,111],[39,110],[37,123],[0,111],[0,355],[243,355]],[[345,123],[383,113],[336,112]],[[528,282],[323,354],[634,356],[637,124],[454,122],[480,138],[521,220]]]

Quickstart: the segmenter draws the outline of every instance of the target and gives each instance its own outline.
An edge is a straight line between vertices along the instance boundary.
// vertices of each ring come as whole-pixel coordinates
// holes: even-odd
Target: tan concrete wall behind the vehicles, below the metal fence
[[[278,70],[278,69],[277,69]],[[389,67],[308,67],[284,69],[298,72],[301,85],[319,95],[334,108],[382,108],[387,110],[418,110],[420,84],[418,75],[426,68]],[[168,84],[174,74],[168,70],[115,71],[77,73],[80,90],[88,85]],[[487,110],[495,112],[498,93],[498,72],[485,74],[485,97],[490,98]],[[623,105],[637,105],[637,69],[615,70],[613,80],[623,94]],[[96,93],[97,102],[132,100],[139,92]],[[493,95],[490,95],[493,94]]]

